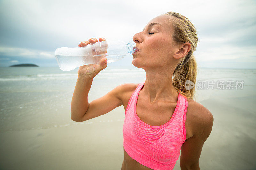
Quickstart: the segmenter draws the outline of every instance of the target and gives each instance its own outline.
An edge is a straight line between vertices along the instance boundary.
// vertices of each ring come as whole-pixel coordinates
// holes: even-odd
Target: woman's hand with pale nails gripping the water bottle
[[[106,40],[105,38],[99,38],[100,42],[105,41],[105,40]],[[84,41],[84,42],[81,42],[80,44],[78,44],[78,47],[84,47],[88,44],[94,44],[96,42],[98,42],[98,40],[96,38],[91,38],[88,41]],[[107,47],[106,47],[106,49],[107,49]],[[104,63],[104,61],[106,61],[106,63]],[[107,58],[103,57],[100,60],[99,64],[88,64],[88,65],[80,66],[78,69],[78,75],[86,77],[86,78],[94,78],[97,74],[99,74],[99,72],[101,70],[105,69],[107,67],[107,65],[108,65]]]

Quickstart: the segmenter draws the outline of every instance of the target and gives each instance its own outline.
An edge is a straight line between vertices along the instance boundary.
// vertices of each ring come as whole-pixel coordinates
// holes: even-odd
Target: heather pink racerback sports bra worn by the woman
[[[188,101],[179,93],[172,118],[161,126],[151,126],[136,113],[138,95],[145,82],[133,92],[123,125],[124,149],[134,160],[155,170],[172,170],[186,140],[185,120]]]

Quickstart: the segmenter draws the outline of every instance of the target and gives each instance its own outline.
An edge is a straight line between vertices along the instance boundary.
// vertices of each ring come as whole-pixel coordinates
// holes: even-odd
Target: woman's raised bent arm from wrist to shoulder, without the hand
[[[88,93],[91,85],[92,79],[78,76],[71,102],[71,119],[73,121],[83,122],[104,115],[123,105],[122,96],[132,86],[130,83],[118,85],[106,95],[88,103]]]

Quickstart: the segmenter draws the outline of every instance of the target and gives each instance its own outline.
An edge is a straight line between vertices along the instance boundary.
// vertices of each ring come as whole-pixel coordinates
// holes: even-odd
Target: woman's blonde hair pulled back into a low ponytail
[[[173,40],[177,43],[189,42],[191,44],[191,50],[180,60],[174,70],[172,85],[180,94],[194,100],[195,86],[194,88],[187,90],[185,88],[185,83],[186,80],[190,80],[196,85],[197,63],[193,54],[196,50],[198,41],[196,28],[188,18],[179,13],[167,12],[165,14],[174,17],[170,19],[174,28]]]

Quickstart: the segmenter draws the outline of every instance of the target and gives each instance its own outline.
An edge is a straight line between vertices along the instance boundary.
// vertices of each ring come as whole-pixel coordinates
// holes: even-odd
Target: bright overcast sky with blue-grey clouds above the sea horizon
[[[133,42],[166,12],[178,12],[196,27],[199,67],[256,69],[255,0],[0,0],[0,67],[58,67],[57,48],[78,47],[92,37]],[[108,65],[132,66],[132,58]]]

